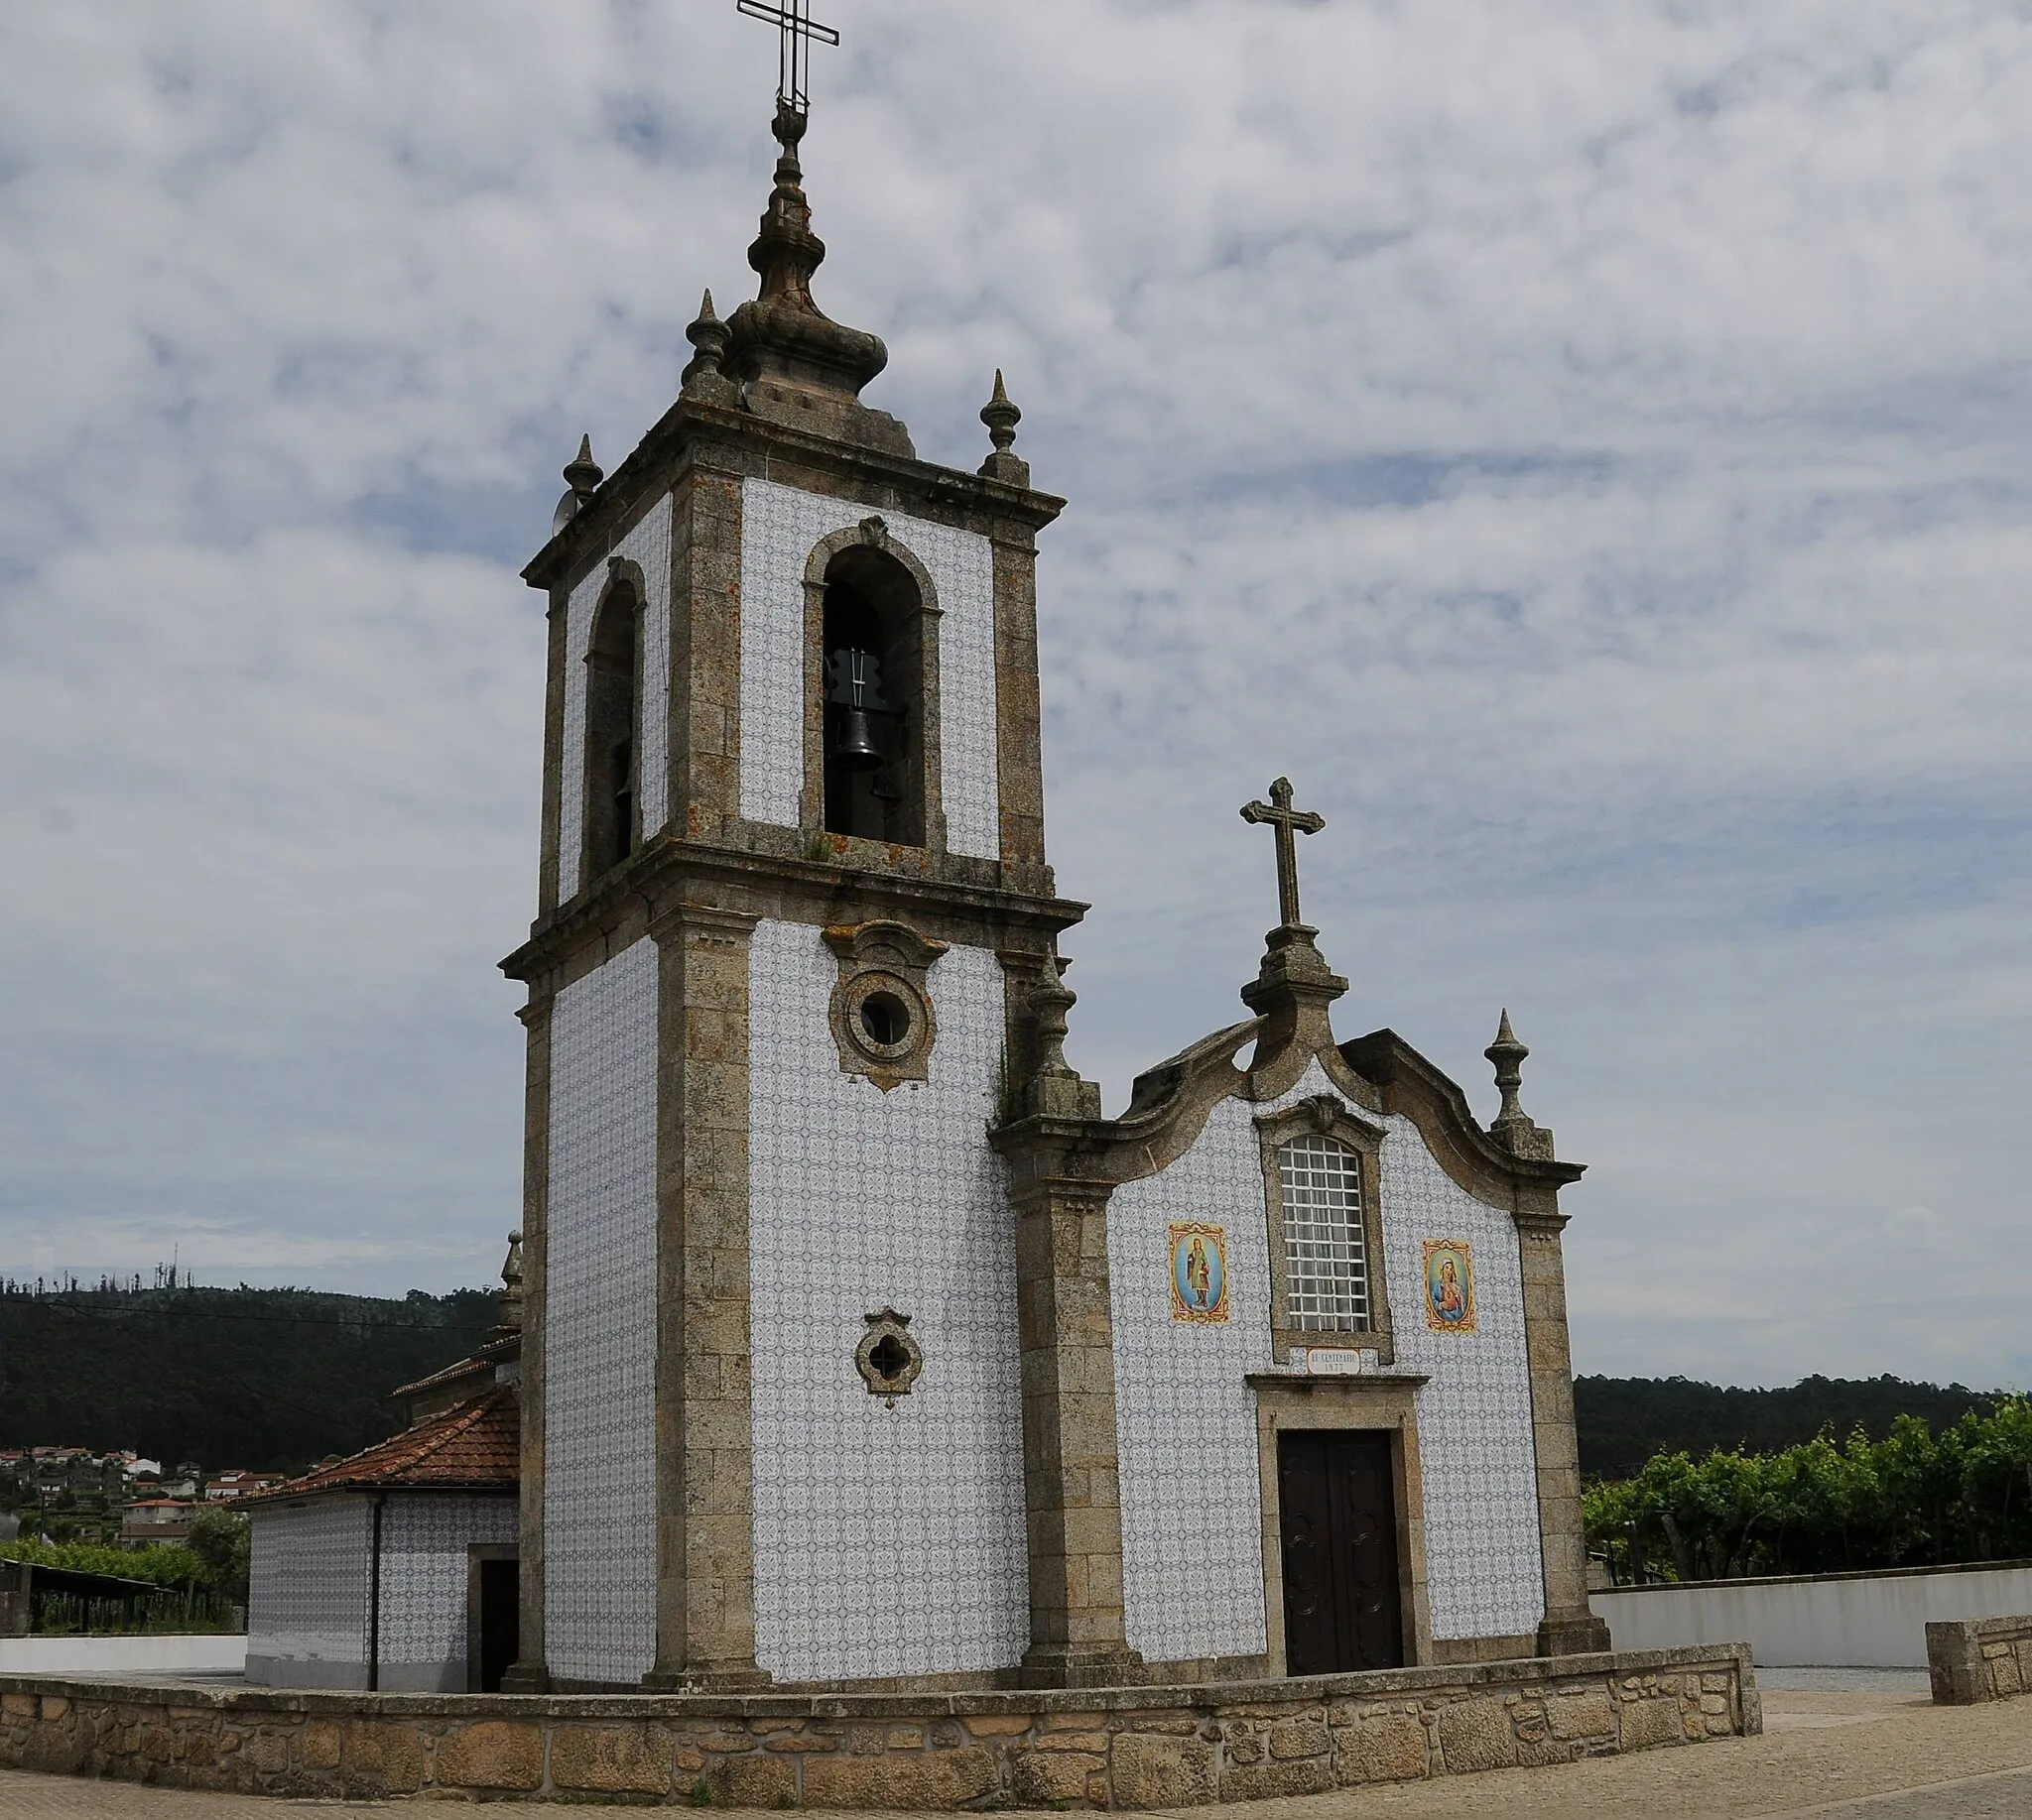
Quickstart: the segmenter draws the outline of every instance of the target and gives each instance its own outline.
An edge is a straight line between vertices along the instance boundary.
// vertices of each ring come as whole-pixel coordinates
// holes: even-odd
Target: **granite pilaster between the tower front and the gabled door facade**
[[[1016,1194],[1030,1686],[1105,1686],[1142,1660],[1122,1629],[1109,1192],[1044,1176]]]

